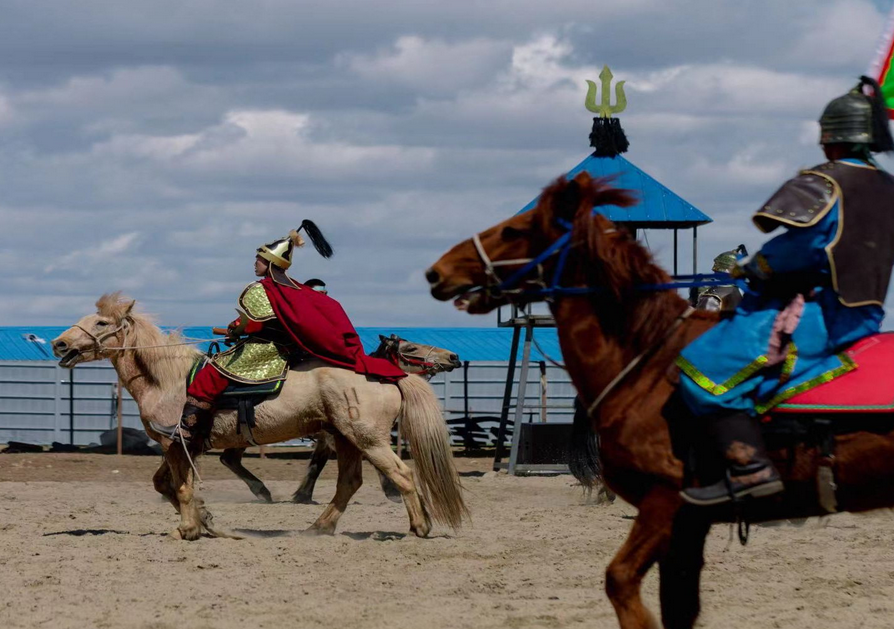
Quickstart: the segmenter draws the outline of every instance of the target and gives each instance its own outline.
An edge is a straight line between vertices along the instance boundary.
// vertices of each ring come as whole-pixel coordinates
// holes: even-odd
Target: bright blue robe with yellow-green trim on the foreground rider
[[[792,227],[768,241],[746,268],[760,267],[767,281],[777,274],[818,272],[782,364],[767,367],[773,323],[787,304],[747,291],[729,319],[698,337],[677,360],[680,392],[696,415],[746,411],[760,415],[777,404],[856,368],[842,352],[879,332],[884,310],[851,308],[832,289],[825,247],[838,231],[840,200],[812,227]],[[757,283],[758,289],[760,284]]]

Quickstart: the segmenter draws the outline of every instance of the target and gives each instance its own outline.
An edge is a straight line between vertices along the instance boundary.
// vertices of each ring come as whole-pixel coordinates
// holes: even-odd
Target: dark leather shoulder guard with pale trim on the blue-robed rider
[[[752,220],[757,228],[768,233],[786,227],[816,225],[841,197],[841,189],[821,164],[789,179],[770,200],[758,210]]]

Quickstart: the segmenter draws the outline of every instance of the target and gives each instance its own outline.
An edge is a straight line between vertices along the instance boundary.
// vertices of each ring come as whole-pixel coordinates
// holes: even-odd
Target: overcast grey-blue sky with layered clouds
[[[758,246],[751,212],[822,161],[814,121],[889,8],[5,0],[0,325],[69,324],[111,290],[167,325],[225,323],[255,249],[304,218],[337,253],[292,274],[356,325],[490,325],[423,271],[588,154],[603,64],[627,81],[627,157],[714,218],[706,267]]]

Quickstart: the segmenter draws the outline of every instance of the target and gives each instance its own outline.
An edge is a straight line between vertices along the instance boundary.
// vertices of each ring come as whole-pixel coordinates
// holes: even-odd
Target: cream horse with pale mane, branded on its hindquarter
[[[150,421],[177,421],[186,400],[183,383],[201,354],[166,334],[146,316],[133,312],[134,302],[118,294],[104,295],[97,312],[87,315],[53,340],[59,364],[74,367],[108,358],[127,391],[140,408],[149,435],[162,444],[164,461],[155,473],[155,489],[180,513],[175,534],[198,539],[202,529],[215,530],[210,513],[193,487],[194,470],[185,448],[154,433]],[[276,443],[316,434],[324,428],[334,434],[338,453],[335,496],[309,532],[333,533],[351,496],[363,482],[363,457],[400,489],[410,530],[425,537],[431,530],[429,512],[453,528],[468,511],[459,476],[453,464],[450,437],[438,400],[419,376],[407,376],[397,385],[384,384],[347,369],[307,361],[293,368],[280,394],[256,409],[258,443]],[[391,427],[399,418],[416,462],[415,473],[391,450]],[[210,441],[215,448],[245,448],[235,411],[215,415]],[[172,447],[173,446],[173,447]]]

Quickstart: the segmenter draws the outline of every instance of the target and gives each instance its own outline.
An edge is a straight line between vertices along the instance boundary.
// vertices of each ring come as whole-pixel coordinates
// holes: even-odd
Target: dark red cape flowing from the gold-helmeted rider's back
[[[270,277],[261,280],[277,320],[298,347],[332,365],[387,382],[407,375],[384,358],[366,355],[341,304],[303,284],[295,284],[292,288]]]

